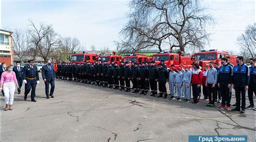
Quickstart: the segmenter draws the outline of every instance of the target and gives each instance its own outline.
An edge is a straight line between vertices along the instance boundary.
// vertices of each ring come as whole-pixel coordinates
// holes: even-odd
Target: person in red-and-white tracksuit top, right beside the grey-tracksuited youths
[[[198,104],[201,96],[201,83],[203,80],[203,72],[199,69],[198,64],[193,65],[192,71],[192,93],[193,93],[193,104]]]

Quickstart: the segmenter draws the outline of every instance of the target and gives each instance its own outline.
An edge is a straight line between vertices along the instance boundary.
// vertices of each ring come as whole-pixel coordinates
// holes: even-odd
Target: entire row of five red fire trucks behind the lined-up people
[[[160,63],[161,60],[164,60],[167,67],[170,68],[170,65],[174,65],[178,67],[180,64],[183,64],[189,68],[192,67],[195,61],[199,61],[199,65],[204,67],[208,65],[209,62],[219,63],[220,59],[223,57],[230,57],[230,63],[235,64],[236,56],[229,55],[226,51],[218,51],[218,50],[201,50],[198,53],[194,53],[194,55],[189,56],[185,55],[183,52],[158,52],[151,56],[142,55],[139,53],[133,53],[131,55],[120,56],[117,55],[116,52],[112,53],[100,53],[97,55],[96,53],[76,53],[74,52],[71,55],[70,63],[83,63],[83,62],[95,62],[96,60],[106,60],[109,64],[111,62],[116,62],[119,64],[120,62],[137,62],[141,63],[144,61],[150,62],[154,60],[156,64]],[[221,65],[221,64],[220,64]]]

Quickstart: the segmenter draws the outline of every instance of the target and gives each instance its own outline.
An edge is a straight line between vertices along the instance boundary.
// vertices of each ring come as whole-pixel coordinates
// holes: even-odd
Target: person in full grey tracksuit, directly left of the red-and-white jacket
[[[183,72],[183,92],[185,95],[185,103],[189,103],[190,96],[191,96],[191,77],[192,73],[187,69],[187,67],[184,67],[185,71]]]

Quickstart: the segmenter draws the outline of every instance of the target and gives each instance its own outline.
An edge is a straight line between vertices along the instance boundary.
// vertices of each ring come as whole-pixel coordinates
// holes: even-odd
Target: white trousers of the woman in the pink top
[[[4,102],[5,104],[14,103],[14,92],[15,92],[15,83],[14,82],[6,82],[3,85],[4,90]]]

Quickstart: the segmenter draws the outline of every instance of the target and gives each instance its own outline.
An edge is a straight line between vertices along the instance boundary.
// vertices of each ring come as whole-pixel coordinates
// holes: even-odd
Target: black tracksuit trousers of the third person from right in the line
[[[230,106],[230,89],[227,86],[228,83],[220,83],[220,93],[222,95],[221,105]]]

